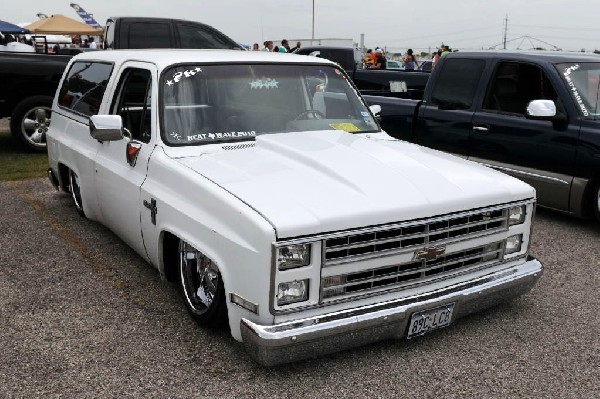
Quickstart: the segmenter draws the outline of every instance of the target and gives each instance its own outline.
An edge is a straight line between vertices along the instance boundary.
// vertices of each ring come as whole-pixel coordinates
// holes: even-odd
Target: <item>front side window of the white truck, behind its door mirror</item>
[[[127,69],[121,75],[111,114],[121,115],[134,140],[150,142],[152,77],[146,69]]]

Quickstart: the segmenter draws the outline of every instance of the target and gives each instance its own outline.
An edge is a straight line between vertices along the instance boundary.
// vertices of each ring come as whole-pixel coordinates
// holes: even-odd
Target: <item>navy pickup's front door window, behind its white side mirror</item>
[[[483,109],[525,115],[527,104],[540,99],[556,103],[558,96],[539,66],[522,62],[501,62],[488,87]]]

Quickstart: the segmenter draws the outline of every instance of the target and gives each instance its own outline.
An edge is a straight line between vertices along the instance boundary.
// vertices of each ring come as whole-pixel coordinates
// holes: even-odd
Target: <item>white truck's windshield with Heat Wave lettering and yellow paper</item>
[[[281,132],[379,131],[334,66],[179,65],[162,76],[162,136],[169,145],[254,140]]]

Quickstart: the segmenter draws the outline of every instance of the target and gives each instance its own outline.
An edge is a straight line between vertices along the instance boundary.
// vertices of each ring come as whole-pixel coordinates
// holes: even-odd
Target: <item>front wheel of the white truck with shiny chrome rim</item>
[[[179,287],[196,322],[222,327],[227,321],[225,287],[215,263],[187,242],[179,241]]]

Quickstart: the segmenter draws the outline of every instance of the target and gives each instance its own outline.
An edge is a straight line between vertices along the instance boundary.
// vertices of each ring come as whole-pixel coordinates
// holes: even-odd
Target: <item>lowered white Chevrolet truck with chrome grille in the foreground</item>
[[[52,104],[49,176],[265,365],[528,292],[535,191],[393,139],[372,111],[321,58],[81,54]]]

